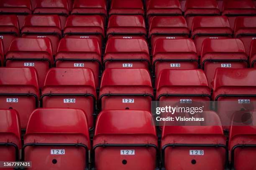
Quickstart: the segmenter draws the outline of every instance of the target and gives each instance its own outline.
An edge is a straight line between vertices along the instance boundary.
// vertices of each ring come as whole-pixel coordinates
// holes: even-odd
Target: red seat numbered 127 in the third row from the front
[[[143,38],[111,37],[106,44],[103,64],[103,68],[150,69],[148,43]]]

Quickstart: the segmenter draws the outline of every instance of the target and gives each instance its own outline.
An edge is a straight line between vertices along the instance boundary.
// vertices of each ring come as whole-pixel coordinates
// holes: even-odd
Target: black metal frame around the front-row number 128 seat
[[[214,147],[214,148],[224,148],[225,149],[225,169],[228,169],[228,148],[226,147],[226,145],[223,145],[223,144],[166,144],[162,147],[161,149],[161,170],[165,170],[164,168],[164,151],[167,147]],[[207,168],[206,168],[207,169]]]

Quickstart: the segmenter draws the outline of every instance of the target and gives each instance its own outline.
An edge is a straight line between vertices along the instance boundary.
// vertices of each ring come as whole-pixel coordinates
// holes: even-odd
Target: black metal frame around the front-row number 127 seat
[[[158,147],[154,144],[97,144],[91,150],[91,163],[92,163],[92,170],[96,170],[95,168],[95,149],[98,147],[153,147],[156,150],[156,168],[155,170],[159,170],[159,158],[158,158]]]

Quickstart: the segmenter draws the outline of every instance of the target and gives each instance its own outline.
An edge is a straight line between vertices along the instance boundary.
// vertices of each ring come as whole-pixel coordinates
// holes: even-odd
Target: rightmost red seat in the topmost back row
[[[235,20],[238,16],[255,16],[256,9],[251,0],[224,0],[222,15],[228,17],[230,27],[234,29]]]

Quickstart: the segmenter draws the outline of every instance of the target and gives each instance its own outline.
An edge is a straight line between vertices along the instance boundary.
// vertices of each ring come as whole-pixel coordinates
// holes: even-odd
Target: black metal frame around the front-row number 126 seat
[[[89,152],[88,147],[81,143],[26,143],[21,149],[21,161],[25,161],[25,148],[27,146],[68,146],[68,147],[83,147],[85,149],[85,169],[89,170]]]

